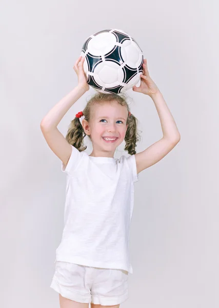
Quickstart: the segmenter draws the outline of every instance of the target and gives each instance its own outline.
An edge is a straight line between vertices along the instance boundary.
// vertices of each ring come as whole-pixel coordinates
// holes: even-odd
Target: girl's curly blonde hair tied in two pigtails
[[[118,104],[122,106],[126,106],[128,113],[129,113],[129,105],[126,101],[126,95],[124,94],[111,94],[111,93],[95,93],[91,99],[87,102],[86,107],[83,110],[84,119],[86,121],[90,121],[91,119],[91,112],[92,107],[96,103],[104,103],[104,102],[111,102],[116,101]],[[130,116],[128,116],[126,124],[128,124],[126,135],[125,135],[125,151],[128,151],[130,155],[136,154],[135,147],[136,142],[139,141],[140,134],[137,132],[137,119],[134,117],[134,115],[131,113]],[[69,127],[68,132],[66,134],[66,140],[69,144],[73,145],[75,148],[77,148],[80,152],[86,150],[87,146],[84,146],[84,138],[86,137],[86,133],[84,131],[84,128],[79,120],[79,118],[75,117]],[[88,135],[89,139],[90,135]],[[140,137],[141,138],[141,137]]]

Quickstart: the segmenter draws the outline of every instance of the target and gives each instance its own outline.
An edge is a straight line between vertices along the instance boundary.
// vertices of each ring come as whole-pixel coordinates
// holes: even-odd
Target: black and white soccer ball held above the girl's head
[[[102,93],[123,93],[140,81],[143,51],[125,31],[107,29],[90,35],[81,51],[87,83]]]

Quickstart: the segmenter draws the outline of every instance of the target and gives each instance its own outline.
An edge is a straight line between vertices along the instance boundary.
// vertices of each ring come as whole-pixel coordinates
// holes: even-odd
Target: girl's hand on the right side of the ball
[[[140,92],[140,93],[143,93],[149,96],[156,94],[157,92],[160,92],[156,84],[153,82],[153,80],[149,76],[146,59],[144,59],[143,74],[141,74],[140,77],[141,77],[141,84],[139,87],[136,87],[136,86],[132,87],[133,91]]]

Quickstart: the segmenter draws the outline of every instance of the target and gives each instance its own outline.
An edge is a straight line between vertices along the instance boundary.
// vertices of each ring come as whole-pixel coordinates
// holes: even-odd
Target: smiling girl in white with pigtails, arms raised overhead
[[[160,161],[180,141],[162,93],[149,76],[147,61],[136,92],[149,95],[161,120],[163,137],[140,153],[137,119],[125,96],[96,93],[71,121],[66,139],[57,129],[70,107],[89,90],[82,56],[75,62],[78,85],[41,122],[51,150],[67,174],[64,230],[56,249],[51,287],[61,308],[116,307],[128,299],[129,228],[138,174]],[[80,119],[81,117],[83,119]],[[85,136],[92,142],[88,155]],[[130,156],[115,159],[123,140]]]

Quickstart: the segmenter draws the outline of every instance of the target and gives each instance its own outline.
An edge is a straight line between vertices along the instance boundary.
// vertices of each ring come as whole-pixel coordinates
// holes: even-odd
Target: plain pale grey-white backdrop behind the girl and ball
[[[39,124],[76,86],[73,65],[85,39],[117,28],[142,48],[181,134],[135,184],[133,275],[121,306],[218,307],[218,3],[12,0],[0,11],[1,306],[59,307],[50,283],[66,176]],[[93,91],[58,125],[64,135]],[[161,124],[148,96],[127,94],[140,152],[162,137]]]

